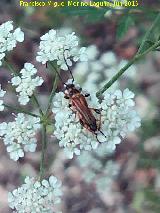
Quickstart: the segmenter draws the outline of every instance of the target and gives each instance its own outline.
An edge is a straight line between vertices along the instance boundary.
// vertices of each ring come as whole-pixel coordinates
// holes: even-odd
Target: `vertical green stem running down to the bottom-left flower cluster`
[[[47,148],[47,134],[46,134],[46,125],[42,126],[42,152],[41,152],[41,162],[40,162],[40,173],[39,179],[42,181],[45,174],[45,152]]]

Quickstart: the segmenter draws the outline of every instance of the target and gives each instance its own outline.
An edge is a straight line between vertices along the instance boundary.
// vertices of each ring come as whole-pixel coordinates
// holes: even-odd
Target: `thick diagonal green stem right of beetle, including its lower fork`
[[[113,78],[108,81],[97,93],[96,96],[101,96],[112,84],[117,81],[117,79],[120,78],[120,76],[135,62],[137,62],[139,59],[143,58],[146,54],[151,52],[152,50],[155,50],[158,46],[160,46],[160,41],[157,41],[154,45],[152,45],[150,48],[148,48],[146,51],[144,51],[141,54],[136,54],[133,59],[131,59],[122,69],[120,69],[117,74],[113,76]]]

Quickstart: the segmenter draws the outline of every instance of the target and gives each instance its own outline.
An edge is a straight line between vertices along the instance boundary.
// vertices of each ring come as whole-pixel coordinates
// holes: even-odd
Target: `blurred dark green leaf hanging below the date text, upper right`
[[[134,25],[134,20],[131,16],[123,16],[122,19],[120,19],[117,27],[117,38],[121,39],[126,32],[128,31],[129,27]]]

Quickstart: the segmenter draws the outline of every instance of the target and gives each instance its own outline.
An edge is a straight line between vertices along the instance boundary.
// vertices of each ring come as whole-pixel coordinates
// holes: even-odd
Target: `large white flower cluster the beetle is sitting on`
[[[123,92],[105,93],[104,99],[98,103],[98,99],[91,95],[87,98],[90,108],[102,109],[101,111],[101,132],[97,132],[100,142],[106,144],[107,150],[115,150],[116,144],[121,142],[129,132],[140,126],[140,118],[136,113],[134,94],[128,89]],[[64,98],[64,93],[55,95],[53,100],[53,113],[55,113],[55,136],[60,140],[59,145],[65,148],[69,158],[73,154],[80,155],[80,150],[96,149],[99,142],[95,134],[84,128],[78,116],[68,107],[69,101]],[[99,114],[94,114],[96,119],[100,119]]]

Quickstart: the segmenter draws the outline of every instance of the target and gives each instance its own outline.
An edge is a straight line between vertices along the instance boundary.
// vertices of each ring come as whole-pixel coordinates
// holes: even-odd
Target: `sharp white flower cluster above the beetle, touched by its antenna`
[[[68,70],[73,61],[86,61],[86,48],[78,47],[79,39],[75,33],[61,34],[61,32],[52,29],[41,36],[37,61],[42,62],[42,64],[48,61],[56,61],[57,65],[63,70]]]

